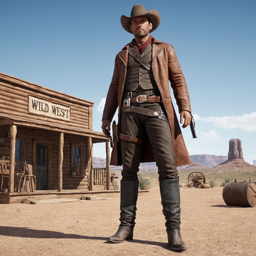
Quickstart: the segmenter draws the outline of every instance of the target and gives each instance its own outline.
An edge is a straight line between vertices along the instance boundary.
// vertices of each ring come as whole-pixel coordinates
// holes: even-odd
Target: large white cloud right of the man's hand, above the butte
[[[234,130],[240,128],[246,132],[256,132],[256,112],[243,114],[236,117],[199,117],[193,115],[195,120],[213,123],[217,128],[225,130]]]

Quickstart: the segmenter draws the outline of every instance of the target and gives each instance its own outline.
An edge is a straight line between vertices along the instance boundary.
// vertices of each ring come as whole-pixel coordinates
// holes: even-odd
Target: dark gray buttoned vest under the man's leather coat
[[[151,65],[152,45],[146,47],[141,56]],[[133,92],[136,90],[157,90],[157,85],[153,76],[152,68],[147,70],[143,65],[128,54],[127,73],[124,86],[124,92]]]

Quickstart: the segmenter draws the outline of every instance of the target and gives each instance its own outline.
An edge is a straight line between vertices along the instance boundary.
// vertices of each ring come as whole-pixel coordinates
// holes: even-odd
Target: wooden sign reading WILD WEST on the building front
[[[70,107],[38,99],[29,95],[28,97],[29,114],[43,115],[63,121],[70,121]]]

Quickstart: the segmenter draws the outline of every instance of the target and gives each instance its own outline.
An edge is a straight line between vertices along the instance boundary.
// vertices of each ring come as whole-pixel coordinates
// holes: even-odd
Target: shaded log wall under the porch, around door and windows
[[[1,133],[9,132],[9,125],[1,126]],[[59,133],[51,132],[49,130],[39,130],[29,127],[17,127],[16,138],[22,138],[25,144],[24,161],[27,164],[33,164],[33,143],[37,141],[43,144],[51,144],[50,155],[50,168],[49,173],[49,189],[58,189],[58,146],[59,146]],[[88,137],[78,135],[64,135],[64,148],[63,148],[63,189],[88,189],[88,155],[87,155],[87,140]],[[83,176],[71,175],[72,164],[72,144],[81,146],[81,165]],[[4,150],[2,150],[4,149]],[[4,146],[0,146],[0,156],[10,155],[10,138],[6,138]],[[34,168],[33,168],[34,169]],[[34,175],[35,173],[35,169]]]

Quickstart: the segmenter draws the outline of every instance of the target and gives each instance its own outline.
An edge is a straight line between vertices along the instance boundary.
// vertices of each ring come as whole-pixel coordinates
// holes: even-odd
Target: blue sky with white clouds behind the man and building
[[[159,11],[151,35],[174,46],[186,78],[198,135],[182,129],[189,154],[227,155],[238,138],[253,164],[255,0],[0,0],[0,72],[93,101],[101,131],[115,56],[132,40],[120,17],[139,3]],[[94,144],[94,157],[105,151]]]

